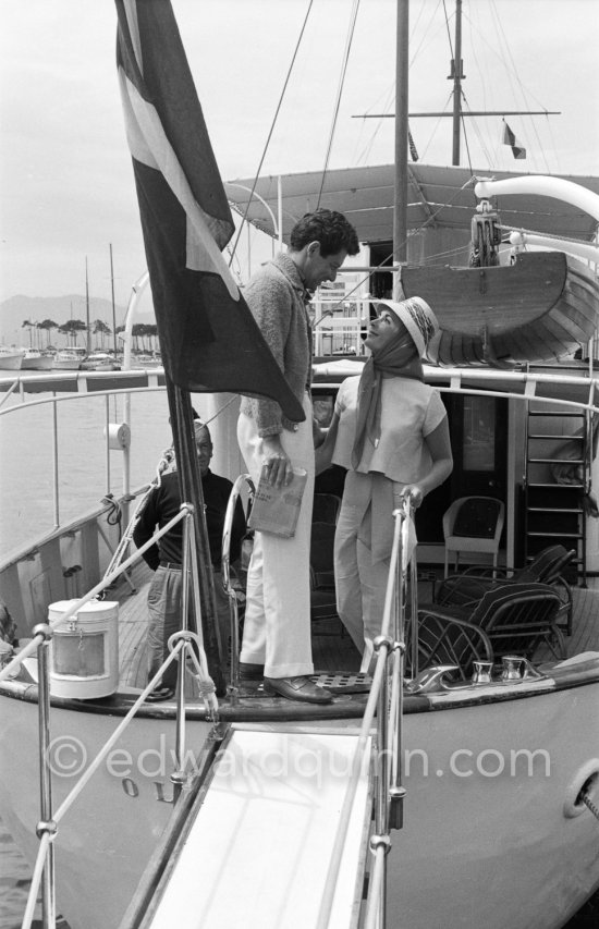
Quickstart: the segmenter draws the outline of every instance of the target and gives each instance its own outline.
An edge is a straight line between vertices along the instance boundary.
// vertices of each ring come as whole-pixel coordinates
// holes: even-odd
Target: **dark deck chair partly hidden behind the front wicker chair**
[[[450,574],[435,586],[432,599],[440,604],[469,606],[478,602],[487,590],[498,584],[551,584],[562,598],[558,624],[566,635],[572,635],[572,589],[563,572],[575,555],[574,549],[567,551],[557,545],[542,549],[528,564],[511,574],[504,567],[496,567],[493,572],[480,565],[468,567],[461,574]]]

